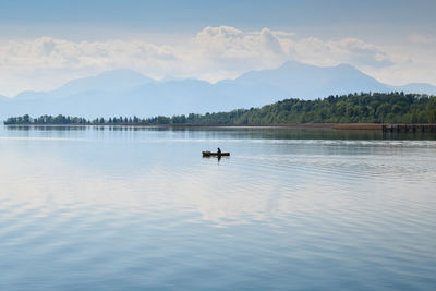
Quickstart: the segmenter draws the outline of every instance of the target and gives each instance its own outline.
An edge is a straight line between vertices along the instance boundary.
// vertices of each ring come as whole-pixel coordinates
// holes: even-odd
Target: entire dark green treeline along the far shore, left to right
[[[9,118],[4,124],[222,124],[283,123],[436,123],[436,96],[403,93],[361,93],[324,99],[286,99],[262,108],[173,117],[97,118],[29,116]]]

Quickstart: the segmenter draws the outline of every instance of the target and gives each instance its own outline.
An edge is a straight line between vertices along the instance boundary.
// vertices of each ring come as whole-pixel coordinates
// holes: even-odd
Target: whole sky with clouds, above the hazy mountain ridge
[[[434,0],[0,0],[0,95],[114,69],[217,82],[286,61],[436,85]]]

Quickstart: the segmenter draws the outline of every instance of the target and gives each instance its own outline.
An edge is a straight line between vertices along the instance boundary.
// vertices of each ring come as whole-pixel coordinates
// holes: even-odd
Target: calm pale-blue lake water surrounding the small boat
[[[202,158],[220,146],[230,158]],[[436,135],[0,128],[0,289],[435,290]]]

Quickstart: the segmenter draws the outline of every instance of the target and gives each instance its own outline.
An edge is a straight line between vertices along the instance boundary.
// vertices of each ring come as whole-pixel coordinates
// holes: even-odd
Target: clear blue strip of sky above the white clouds
[[[105,39],[125,33],[193,34],[205,26],[226,25],[399,41],[415,32],[434,34],[435,13],[432,0],[2,0],[0,24],[8,29],[0,36]]]

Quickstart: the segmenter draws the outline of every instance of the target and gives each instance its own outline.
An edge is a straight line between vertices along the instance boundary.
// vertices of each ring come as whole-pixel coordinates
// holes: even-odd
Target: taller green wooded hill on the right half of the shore
[[[251,109],[235,123],[436,123],[436,96],[361,93],[316,100],[287,99]]]

